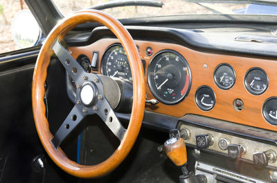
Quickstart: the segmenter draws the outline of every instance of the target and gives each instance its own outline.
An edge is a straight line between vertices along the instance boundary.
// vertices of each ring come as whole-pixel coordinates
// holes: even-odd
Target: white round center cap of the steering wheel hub
[[[89,106],[96,97],[96,90],[91,84],[85,84],[80,91],[80,99],[82,104]]]

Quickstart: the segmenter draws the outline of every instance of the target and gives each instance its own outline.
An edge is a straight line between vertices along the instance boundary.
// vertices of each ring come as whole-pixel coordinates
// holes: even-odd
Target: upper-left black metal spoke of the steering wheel
[[[58,39],[55,41],[55,44],[53,44],[53,50],[73,81],[76,82],[85,74],[84,68],[82,68],[62,44],[60,44]]]

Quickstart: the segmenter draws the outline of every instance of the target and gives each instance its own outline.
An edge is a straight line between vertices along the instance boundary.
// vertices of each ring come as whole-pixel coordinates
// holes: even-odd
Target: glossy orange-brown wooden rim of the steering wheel
[[[132,113],[125,136],[123,137],[120,146],[118,146],[116,151],[114,151],[105,162],[93,166],[84,166],[73,162],[66,157],[60,147],[56,149],[53,146],[51,142],[53,135],[49,131],[49,124],[45,116],[46,109],[44,105],[44,82],[46,80],[47,68],[50,63],[51,55],[53,54],[53,44],[57,39],[62,40],[64,35],[66,35],[66,32],[72,28],[80,23],[86,22],[100,23],[114,32],[114,35],[120,40],[120,43],[127,52],[133,77]],[[129,32],[127,32],[119,21],[110,15],[107,15],[105,12],[98,10],[76,12],[71,17],[63,19],[57,23],[49,33],[48,37],[46,37],[46,41],[37,57],[33,74],[32,104],[35,126],[37,128],[39,139],[46,149],[46,152],[57,166],[60,166],[60,168],[71,175],[83,178],[99,177],[114,170],[116,166],[123,162],[134,145],[141,128],[145,109],[145,81],[143,66],[141,64],[141,58],[136,48],[136,44],[134,44],[134,40],[131,35],[129,35]]]

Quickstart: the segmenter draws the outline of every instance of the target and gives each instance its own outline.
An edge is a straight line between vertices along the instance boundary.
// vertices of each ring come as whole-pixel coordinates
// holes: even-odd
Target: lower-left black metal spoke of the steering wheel
[[[87,115],[87,111],[83,111],[82,105],[76,104],[69,115],[55,133],[55,136],[51,140],[55,148],[58,148],[60,144],[66,139],[66,137],[82,122],[82,119]]]

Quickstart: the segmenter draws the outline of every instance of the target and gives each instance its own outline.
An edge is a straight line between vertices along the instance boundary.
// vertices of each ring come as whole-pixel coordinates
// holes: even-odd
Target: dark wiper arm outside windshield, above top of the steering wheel
[[[157,8],[163,7],[163,2],[153,1],[153,0],[123,0],[123,1],[111,1],[107,3],[102,3],[99,5],[91,6],[89,9],[94,10],[105,10],[108,8],[116,8],[123,6],[152,6]]]

